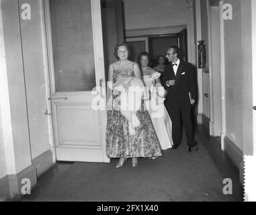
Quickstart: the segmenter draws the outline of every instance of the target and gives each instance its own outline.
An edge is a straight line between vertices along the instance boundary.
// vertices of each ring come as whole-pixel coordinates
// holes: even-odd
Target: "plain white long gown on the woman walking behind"
[[[153,122],[153,126],[155,131],[157,132],[157,137],[161,144],[162,150],[166,150],[168,148],[172,148],[173,146],[173,138],[171,133],[171,118],[166,110],[163,98],[157,95],[155,91],[155,80],[161,76],[161,73],[153,73],[152,75],[144,75],[143,81],[146,87],[151,90],[151,100],[155,99],[158,102],[159,110],[161,110],[161,114],[158,115],[157,112],[153,112],[151,108],[148,108],[148,112],[151,115],[151,120]],[[157,103],[156,102],[156,103]],[[152,105],[149,105],[152,107]],[[153,116],[153,114],[155,116]]]

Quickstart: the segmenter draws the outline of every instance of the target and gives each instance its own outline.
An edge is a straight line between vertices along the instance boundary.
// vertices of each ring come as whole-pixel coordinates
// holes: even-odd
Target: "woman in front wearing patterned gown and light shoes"
[[[110,64],[109,81],[114,85],[123,78],[136,77],[142,79],[140,69],[136,62],[128,60],[129,49],[124,43],[117,44],[114,55],[117,62]],[[116,168],[122,167],[128,158],[132,158],[132,167],[138,165],[138,157],[162,156],[161,146],[151,122],[151,117],[143,105],[136,111],[140,126],[135,128],[136,134],[130,135],[129,120],[116,106],[120,105],[121,93],[111,91],[111,108],[108,109],[108,122],[106,130],[106,152],[110,158],[120,158]],[[143,102],[142,102],[143,103]]]

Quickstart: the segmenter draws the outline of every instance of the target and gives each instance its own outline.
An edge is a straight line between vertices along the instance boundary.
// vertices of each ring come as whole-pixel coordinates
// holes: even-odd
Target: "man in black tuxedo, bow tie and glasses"
[[[196,152],[198,143],[194,140],[191,123],[191,105],[196,99],[193,67],[178,58],[179,48],[171,46],[167,50],[169,64],[165,67],[163,85],[168,91],[165,106],[172,121],[173,148],[181,143],[181,117],[185,126],[189,152]]]

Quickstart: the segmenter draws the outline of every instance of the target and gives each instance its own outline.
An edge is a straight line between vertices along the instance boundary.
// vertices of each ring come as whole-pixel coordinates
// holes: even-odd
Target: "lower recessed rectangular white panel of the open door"
[[[58,114],[58,146],[99,146],[99,130],[95,129],[99,118],[98,113],[91,109],[91,104],[54,105]]]

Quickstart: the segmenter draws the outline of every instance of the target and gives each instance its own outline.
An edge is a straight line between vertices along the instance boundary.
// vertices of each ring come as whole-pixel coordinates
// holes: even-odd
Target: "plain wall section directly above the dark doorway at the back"
[[[124,0],[126,30],[187,24],[185,0]]]

